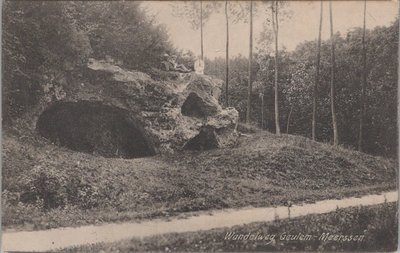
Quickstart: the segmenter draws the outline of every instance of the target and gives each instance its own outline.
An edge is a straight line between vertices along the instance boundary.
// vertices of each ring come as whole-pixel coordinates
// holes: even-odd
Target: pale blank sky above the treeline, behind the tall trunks
[[[224,3],[224,2],[222,2]],[[195,31],[184,18],[172,15],[172,4],[183,4],[179,1],[149,1],[143,7],[155,16],[158,23],[164,24],[173,44],[180,49],[189,49],[200,53],[200,31]],[[232,3],[233,4],[233,3]],[[222,7],[224,5],[222,4]],[[345,34],[354,27],[361,27],[363,21],[364,1],[333,1],[334,30]],[[263,7],[265,8],[265,7]],[[291,13],[289,18],[280,23],[279,46],[293,50],[305,40],[317,38],[319,25],[319,1],[291,1],[286,9]],[[254,45],[263,29],[266,11],[259,8],[254,17]],[[329,2],[324,2],[322,37],[329,37]],[[367,28],[390,25],[398,15],[398,4],[392,1],[367,2]],[[268,15],[270,16],[270,14]],[[230,54],[248,55],[249,24],[239,22],[230,24]],[[204,53],[208,58],[224,56],[225,52],[225,15],[223,8],[213,14],[204,27]]]

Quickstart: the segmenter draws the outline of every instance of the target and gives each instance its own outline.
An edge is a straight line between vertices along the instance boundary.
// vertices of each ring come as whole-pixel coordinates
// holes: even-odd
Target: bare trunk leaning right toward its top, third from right
[[[319,86],[319,68],[321,62],[321,32],[322,32],[322,14],[323,13],[323,2],[321,0],[321,10],[319,14],[319,30],[318,30],[318,45],[317,45],[317,62],[316,62],[316,72],[315,72],[315,83],[313,89],[313,118],[312,118],[312,139],[315,141],[316,134],[316,122],[317,122],[317,96],[318,96],[318,86]]]

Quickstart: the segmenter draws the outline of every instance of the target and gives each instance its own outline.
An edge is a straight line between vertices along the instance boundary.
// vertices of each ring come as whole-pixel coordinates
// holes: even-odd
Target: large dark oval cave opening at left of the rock
[[[155,155],[153,142],[127,110],[100,102],[59,102],[46,109],[36,128],[53,143],[104,157]]]

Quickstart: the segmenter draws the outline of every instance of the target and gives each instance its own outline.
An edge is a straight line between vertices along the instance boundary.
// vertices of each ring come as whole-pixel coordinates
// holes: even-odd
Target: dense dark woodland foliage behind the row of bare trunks
[[[368,85],[366,94],[367,114],[365,120],[365,152],[384,156],[396,156],[397,150],[397,41],[398,20],[388,27],[376,27],[367,30],[367,69]],[[362,29],[355,28],[345,36],[335,34],[336,41],[336,87],[337,117],[341,144],[348,147],[357,146],[359,125],[359,104],[361,94],[360,65],[362,57]],[[256,125],[264,125],[275,131],[274,90],[273,90],[273,58],[270,55],[271,34],[265,30],[256,55],[257,66],[254,73],[254,92],[252,98],[252,121]],[[287,127],[290,109],[293,112],[289,133],[311,136],[312,119],[312,86],[314,84],[316,41],[306,41],[297,46],[293,52],[285,49],[279,52],[280,83],[280,124]],[[317,99],[316,139],[332,142],[332,118],[329,100],[330,78],[330,42],[322,41],[320,87]],[[230,96],[231,105],[239,111],[240,120],[244,121],[246,91],[248,78],[247,58],[238,56],[230,60]],[[215,59],[206,61],[205,73],[224,78],[224,61]],[[259,88],[257,88],[259,87]],[[265,108],[264,124],[261,124],[261,101],[258,93],[264,91]],[[223,97],[221,99],[224,99]]]

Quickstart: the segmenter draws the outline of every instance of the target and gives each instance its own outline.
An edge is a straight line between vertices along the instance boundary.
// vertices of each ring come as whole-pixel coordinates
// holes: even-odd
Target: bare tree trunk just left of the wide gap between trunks
[[[275,7],[273,4],[275,3]],[[271,5],[272,10],[272,25],[274,27],[275,34],[275,133],[281,134],[281,128],[279,126],[279,83],[278,83],[278,34],[279,34],[279,20],[278,20],[278,1],[274,1]],[[274,15],[275,14],[275,15]]]

